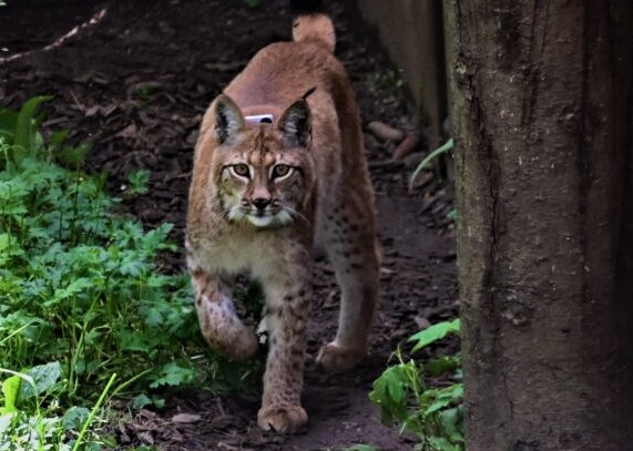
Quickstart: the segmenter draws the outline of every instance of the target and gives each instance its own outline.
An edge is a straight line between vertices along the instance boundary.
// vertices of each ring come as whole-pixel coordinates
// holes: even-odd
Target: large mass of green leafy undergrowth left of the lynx
[[[80,171],[88,147],[44,140],[48,100],[0,109],[0,451],[111,448],[112,397],[160,406],[164,388],[244,389],[254,372],[208,351],[188,276],[159,264],[172,225],[145,230]]]

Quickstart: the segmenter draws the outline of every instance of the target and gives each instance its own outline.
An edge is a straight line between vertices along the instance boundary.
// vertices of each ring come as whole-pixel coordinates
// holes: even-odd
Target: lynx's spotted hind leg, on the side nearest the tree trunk
[[[317,356],[328,371],[347,370],[367,356],[379,281],[374,206],[363,205],[368,202],[335,208],[328,217],[325,244],[341,291],[336,338]]]

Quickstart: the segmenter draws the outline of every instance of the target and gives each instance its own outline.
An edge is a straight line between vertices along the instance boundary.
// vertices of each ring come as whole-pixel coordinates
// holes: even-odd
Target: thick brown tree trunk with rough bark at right
[[[447,0],[469,450],[633,449],[633,2]]]

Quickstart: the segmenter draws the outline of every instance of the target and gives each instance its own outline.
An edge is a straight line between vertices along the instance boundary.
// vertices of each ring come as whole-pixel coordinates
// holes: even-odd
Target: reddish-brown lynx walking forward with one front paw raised
[[[245,360],[258,347],[235,312],[236,274],[262,284],[269,351],[257,422],[293,433],[310,316],[310,262],[325,248],[341,290],[325,370],[367,353],[378,298],[374,193],[358,111],[334,57],[329,18],[302,16],[293,41],[261,50],[206,111],[194,154],[186,253],[200,326],[217,351]]]

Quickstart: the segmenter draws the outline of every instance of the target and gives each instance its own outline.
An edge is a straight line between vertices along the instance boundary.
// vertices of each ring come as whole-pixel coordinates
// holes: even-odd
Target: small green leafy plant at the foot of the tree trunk
[[[459,319],[439,322],[416,335],[414,352],[447,335],[459,332]],[[419,438],[417,449],[423,451],[461,451],[463,439],[463,386],[461,356],[442,356],[421,365],[405,361],[401,352],[395,352],[397,363],[387,368],[374,382],[369,398],[380,408],[386,423],[399,423],[400,432]],[[450,377],[450,383],[432,387],[430,378]],[[457,381],[456,381],[457,380]]]

